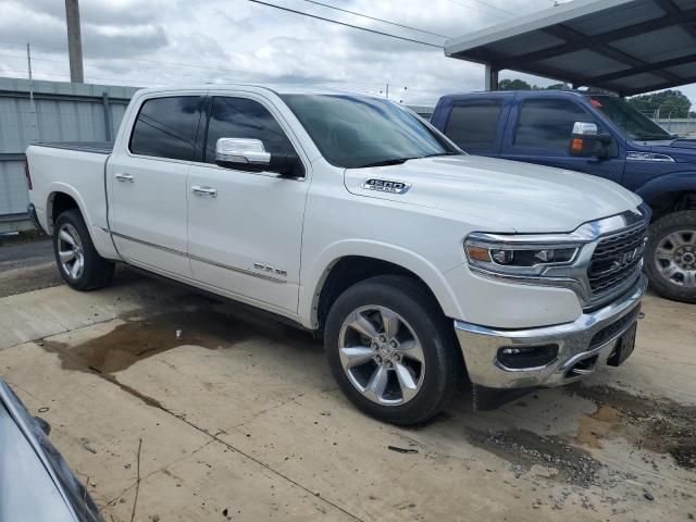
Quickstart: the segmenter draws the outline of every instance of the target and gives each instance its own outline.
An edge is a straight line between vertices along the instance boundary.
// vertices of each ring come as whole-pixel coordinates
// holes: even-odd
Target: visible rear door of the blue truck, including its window
[[[448,98],[435,110],[433,125],[470,154],[497,157],[511,100],[501,95]]]

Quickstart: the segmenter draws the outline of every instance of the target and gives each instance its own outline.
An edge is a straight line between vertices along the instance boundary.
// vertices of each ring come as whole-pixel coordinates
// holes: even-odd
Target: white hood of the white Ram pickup
[[[363,187],[369,179],[410,187],[401,194],[378,191]],[[345,183],[355,195],[457,214],[486,232],[571,232],[587,221],[635,210],[642,201],[599,177],[477,156],[348,169]]]

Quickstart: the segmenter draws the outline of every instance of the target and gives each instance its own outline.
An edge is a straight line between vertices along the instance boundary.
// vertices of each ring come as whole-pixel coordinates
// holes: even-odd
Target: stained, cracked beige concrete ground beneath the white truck
[[[0,376],[49,408],[107,520],[130,520],[139,440],[148,522],[696,515],[694,307],[649,297],[635,353],[582,387],[487,413],[462,393],[409,430],[352,408],[308,334],[166,284],[49,288],[0,310]],[[20,335],[22,316],[37,326]]]

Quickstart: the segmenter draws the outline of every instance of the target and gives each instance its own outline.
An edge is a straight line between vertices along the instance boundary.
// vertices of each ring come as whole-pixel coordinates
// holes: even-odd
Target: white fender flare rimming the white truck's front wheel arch
[[[386,261],[413,272],[428,286],[447,316],[463,318],[459,302],[444,274],[424,257],[396,245],[369,239],[345,239],[330,245],[311,264],[302,265],[298,307],[302,325],[310,328],[318,326],[316,312],[322,286],[336,262],[352,256]]]

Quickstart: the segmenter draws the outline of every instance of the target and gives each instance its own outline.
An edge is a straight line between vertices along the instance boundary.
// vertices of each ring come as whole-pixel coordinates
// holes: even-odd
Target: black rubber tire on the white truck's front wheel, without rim
[[[351,383],[340,360],[339,343],[344,322],[353,311],[372,306],[396,312],[406,321],[407,331],[412,331],[422,347],[425,361],[422,384],[415,395],[401,405],[385,406],[366,398]],[[336,299],[326,318],[324,347],[334,377],[353,405],[380,421],[412,425],[435,415],[457,389],[462,375],[462,362],[453,335],[450,322],[419,282],[406,276],[385,275],[358,283]],[[372,364],[372,361],[369,363]]]

